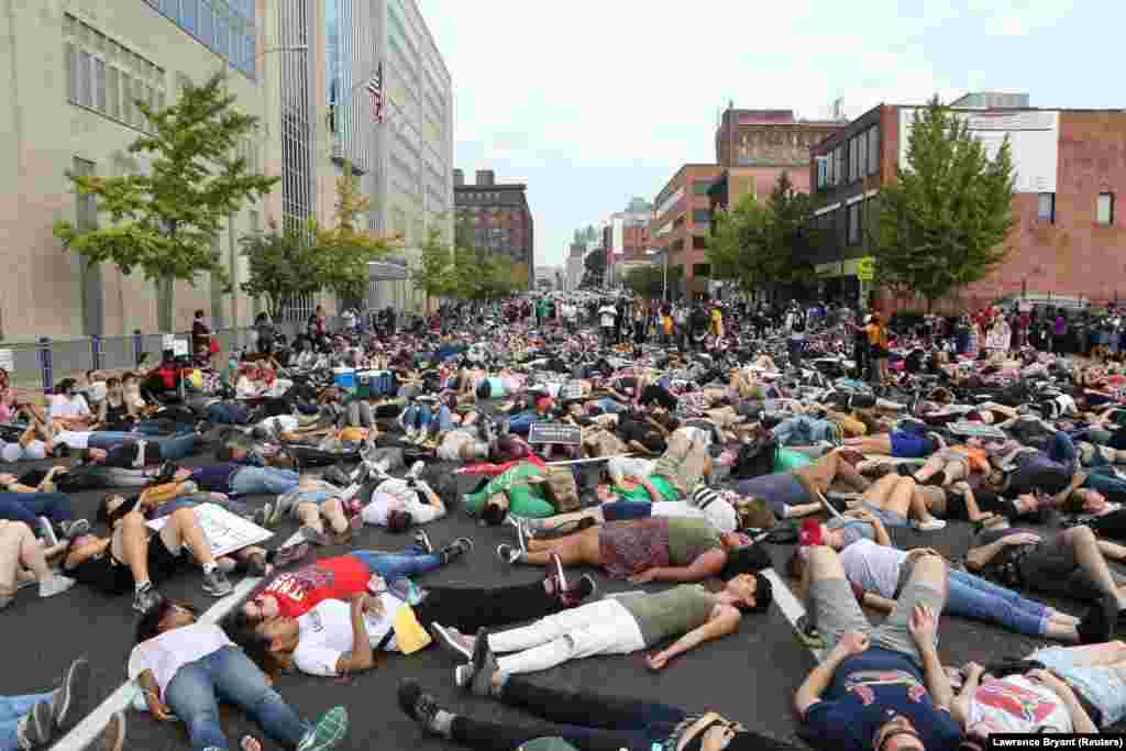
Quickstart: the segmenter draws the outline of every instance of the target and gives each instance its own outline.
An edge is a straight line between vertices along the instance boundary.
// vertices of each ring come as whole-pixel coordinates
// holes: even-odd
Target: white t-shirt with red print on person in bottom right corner
[[[969,701],[969,725],[984,724],[993,733],[1071,733],[1067,706],[1047,686],[1024,676],[978,686]]]

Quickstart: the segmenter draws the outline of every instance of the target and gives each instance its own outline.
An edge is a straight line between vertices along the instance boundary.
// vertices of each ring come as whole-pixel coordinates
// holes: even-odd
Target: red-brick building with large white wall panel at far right
[[[1006,106],[991,109],[991,101]],[[1126,298],[1126,218],[1116,207],[1117,196],[1126,195],[1126,113],[1027,104],[1025,95],[992,93],[955,102],[990,154],[1009,138],[1017,179],[1004,265],[949,305],[977,307],[1022,292],[1096,303]],[[810,179],[821,204],[816,225],[829,242],[812,260],[824,294],[868,299],[868,285],[856,271],[869,254],[865,227],[872,202],[896,179],[896,168],[906,167],[908,135],[919,107],[879,105],[814,146]]]

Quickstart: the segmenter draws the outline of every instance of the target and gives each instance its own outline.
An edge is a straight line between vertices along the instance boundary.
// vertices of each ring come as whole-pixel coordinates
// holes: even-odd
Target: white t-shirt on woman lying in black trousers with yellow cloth
[[[379,594],[383,615],[364,615],[368,642],[378,646],[395,623],[395,614],[404,602],[390,592]],[[297,618],[301,641],[294,650],[293,661],[297,670],[311,676],[337,676],[337,663],[346,652],[352,650],[351,606],[342,600],[324,600],[315,608]],[[392,636],[384,647],[397,652],[399,645]]]

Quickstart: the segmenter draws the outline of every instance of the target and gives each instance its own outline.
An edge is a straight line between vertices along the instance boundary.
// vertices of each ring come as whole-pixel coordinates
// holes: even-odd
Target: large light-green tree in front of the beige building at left
[[[54,234],[90,265],[109,262],[126,275],[140,269],[158,285],[159,324],[170,331],[173,280],[194,285],[200,274],[211,274],[225,283],[215,238],[231,216],[268,194],[278,178],[251,172],[247,160],[235,155],[258,118],[232,107],[234,97],[226,93],[222,74],[198,87],[186,84],[176,104],[162,110],[142,99],[135,104],[151,133],[129,144],[128,152],[150,168],[111,178],[68,173],[77,193],[97,199],[109,224],[82,231],[60,221]]]

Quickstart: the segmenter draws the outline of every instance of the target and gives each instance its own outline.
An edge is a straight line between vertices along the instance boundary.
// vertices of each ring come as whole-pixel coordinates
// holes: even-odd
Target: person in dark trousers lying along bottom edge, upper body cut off
[[[796,751],[716,712],[688,712],[629,697],[540,686],[513,676],[492,694],[536,717],[531,725],[476,719],[443,708],[413,680],[399,685],[400,708],[430,733],[480,751],[511,751],[561,737],[579,751]]]

